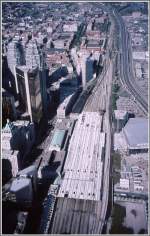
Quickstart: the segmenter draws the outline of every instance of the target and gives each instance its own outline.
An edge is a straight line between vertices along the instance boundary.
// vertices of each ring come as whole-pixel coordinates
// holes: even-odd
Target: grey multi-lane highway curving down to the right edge
[[[148,102],[146,101],[143,92],[140,90],[135,82],[133,66],[132,66],[132,48],[129,33],[126,29],[125,23],[117,12],[116,9],[112,9],[112,14],[116,20],[116,24],[119,26],[119,51],[120,51],[120,79],[124,87],[131,93],[137,104],[145,113],[148,112]]]

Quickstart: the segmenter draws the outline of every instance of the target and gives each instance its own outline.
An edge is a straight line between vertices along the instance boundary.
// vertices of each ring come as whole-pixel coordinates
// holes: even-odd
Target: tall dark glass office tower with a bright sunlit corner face
[[[31,122],[39,123],[42,118],[42,99],[39,69],[27,66],[16,68],[16,87],[19,95],[20,110],[29,116]]]

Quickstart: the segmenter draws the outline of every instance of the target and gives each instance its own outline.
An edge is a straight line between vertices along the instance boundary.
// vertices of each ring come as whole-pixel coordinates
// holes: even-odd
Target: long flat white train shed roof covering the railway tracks
[[[64,166],[58,197],[100,200],[105,133],[98,112],[79,115]]]

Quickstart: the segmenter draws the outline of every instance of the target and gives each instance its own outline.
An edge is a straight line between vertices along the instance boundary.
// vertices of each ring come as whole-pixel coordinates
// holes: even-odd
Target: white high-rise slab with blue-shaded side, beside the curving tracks
[[[93,78],[93,59],[86,54],[81,56],[82,86]]]

